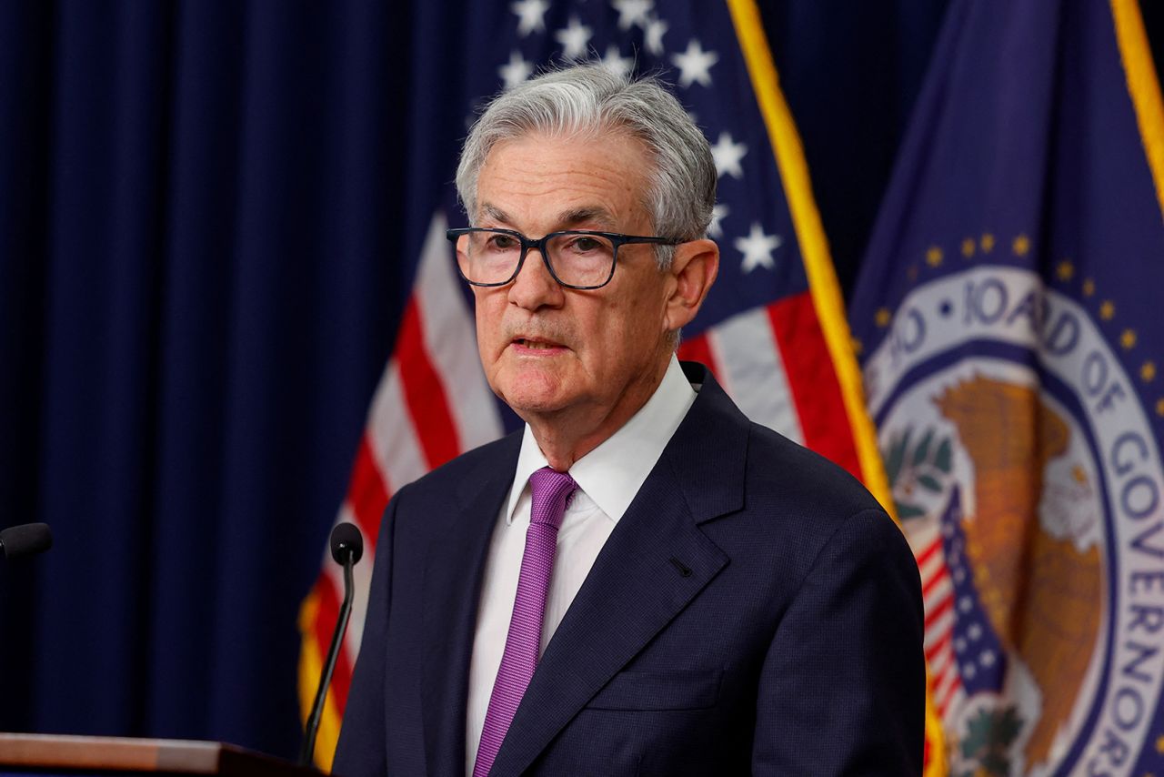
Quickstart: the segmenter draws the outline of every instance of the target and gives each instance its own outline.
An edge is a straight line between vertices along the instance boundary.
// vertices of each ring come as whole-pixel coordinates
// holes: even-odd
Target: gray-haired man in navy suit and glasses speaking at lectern
[[[482,114],[457,188],[482,365],[526,424],[389,506],[335,771],[921,774],[900,531],[675,359],[718,268],[679,103],[541,76]]]

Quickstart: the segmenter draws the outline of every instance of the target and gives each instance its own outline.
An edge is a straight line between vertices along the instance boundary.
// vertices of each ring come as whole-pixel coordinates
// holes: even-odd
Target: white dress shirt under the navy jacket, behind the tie
[[[594,566],[598,551],[639,493],[693,402],[695,391],[683,376],[679,360],[672,356],[659,388],[647,403],[622,429],[570,467],[569,473],[579,490],[566,509],[558,531],[554,573],[541,627],[541,650],[546,649]],[[497,516],[481,586],[466,715],[464,771],[470,776],[517,599],[525,534],[530,528],[530,475],[547,465],[533,432],[526,425],[513,485]]]

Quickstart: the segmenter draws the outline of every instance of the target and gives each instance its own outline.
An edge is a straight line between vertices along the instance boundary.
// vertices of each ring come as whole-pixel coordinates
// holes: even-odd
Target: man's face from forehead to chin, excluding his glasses
[[[530,238],[559,229],[653,234],[643,204],[647,165],[641,142],[623,134],[504,141],[477,177],[474,224]],[[530,252],[509,285],[473,289],[489,384],[527,422],[570,415],[617,429],[666,369],[668,278],[652,246],[626,245],[609,284],[565,289]]]

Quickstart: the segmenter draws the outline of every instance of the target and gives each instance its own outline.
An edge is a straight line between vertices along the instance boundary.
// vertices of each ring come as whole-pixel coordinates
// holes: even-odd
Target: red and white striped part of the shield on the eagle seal
[[[945,564],[942,532],[937,528],[921,530],[910,537],[917,567],[922,574],[922,600],[925,606],[925,663],[930,669],[930,693],[938,718],[965,699],[958,662],[953,652],[954,592]]]

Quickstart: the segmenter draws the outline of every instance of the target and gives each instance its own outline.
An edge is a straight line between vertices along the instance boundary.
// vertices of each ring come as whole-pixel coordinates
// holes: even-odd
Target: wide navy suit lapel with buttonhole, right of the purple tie
[[[707,375],[546,647],[490,774],[527,769],[728,564],[698,524],[743,507],[746,446],[746,419]]]

